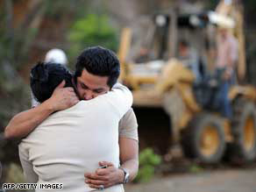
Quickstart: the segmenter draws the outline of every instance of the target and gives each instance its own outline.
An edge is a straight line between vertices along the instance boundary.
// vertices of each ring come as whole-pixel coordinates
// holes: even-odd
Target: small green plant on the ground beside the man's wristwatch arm
[[[150,181],[153,177],[155,167],[160,165],[160,162],[160,155],[153,153],[152,148],[146,148],[139,153],[139,172],[135,181]]]

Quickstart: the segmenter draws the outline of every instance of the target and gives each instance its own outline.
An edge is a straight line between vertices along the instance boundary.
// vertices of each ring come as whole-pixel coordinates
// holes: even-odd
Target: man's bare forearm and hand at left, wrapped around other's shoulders
[[[18,113],[11,118],[6,126],[4,136],[7,139],[23,138],[32,132],[56,110],[65,110],[79,102],[73,88],[64,88],[65,81],[54,90],[53,96],[44,103],[31,109]]]

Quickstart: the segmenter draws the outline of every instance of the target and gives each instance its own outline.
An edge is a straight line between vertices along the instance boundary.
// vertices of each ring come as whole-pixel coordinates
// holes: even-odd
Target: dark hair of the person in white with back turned
[[[65,87],[73,87],[72,74],[68,68],[58,63],[39,62],[30,73],[32,94],[39,103],[43,103],[63,80],[66,82]]]

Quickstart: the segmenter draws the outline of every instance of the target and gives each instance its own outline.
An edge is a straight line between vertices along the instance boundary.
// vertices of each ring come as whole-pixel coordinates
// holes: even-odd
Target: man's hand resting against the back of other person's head
[[[51,96],[46,102],[52,107],[53,111],[66,110],[79,102],[78,97],[75,95],[73,88],[64,88],[65,81],[60,82],[60,85],[53,91]]]

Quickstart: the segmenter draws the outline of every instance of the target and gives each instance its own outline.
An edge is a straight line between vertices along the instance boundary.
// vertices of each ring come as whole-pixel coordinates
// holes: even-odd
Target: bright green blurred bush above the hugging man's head
[[[78,19],[68,33],[69,54],[77,56],[88,46],[104,46],[117,50],[117,32],[110,25],[106,15],[89,14]]]

